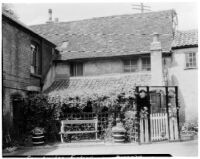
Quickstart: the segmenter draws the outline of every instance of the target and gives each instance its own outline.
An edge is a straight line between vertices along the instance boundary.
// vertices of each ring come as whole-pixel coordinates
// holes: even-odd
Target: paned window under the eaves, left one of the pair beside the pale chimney
[[[138,59],[124,60],[124,72],[138,71],[137,61]]]

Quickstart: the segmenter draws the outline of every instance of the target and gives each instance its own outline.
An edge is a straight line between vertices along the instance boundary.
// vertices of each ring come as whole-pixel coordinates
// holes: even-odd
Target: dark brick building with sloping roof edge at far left
[[[2,13],[2,110],[6,135],[20,133],[23,99],[41,92],[57,54],[55,47],[19,20]]]

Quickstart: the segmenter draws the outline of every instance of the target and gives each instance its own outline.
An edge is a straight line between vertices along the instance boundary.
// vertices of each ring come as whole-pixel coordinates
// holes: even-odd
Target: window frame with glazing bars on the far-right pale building
[[[190,57],[191,54],[192,57]],[[192,61],[190,61],[191,59]],[[195,69],[195,68],[197,68],[197,53],[195,51],[185,52],[185,69]]]

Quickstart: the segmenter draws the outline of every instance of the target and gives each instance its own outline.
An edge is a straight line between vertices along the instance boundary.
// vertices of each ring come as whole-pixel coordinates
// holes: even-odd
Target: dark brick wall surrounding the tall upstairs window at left
[[[4,125],[12,127],[13,105],[12,95],[27,95],[27,87],[41,88],[41,79],[30,73],[32,61],[31,42],[35,41],[41,46],[43,63],[40,65],[41,77],[45,76],[52,60],[52,45],[42,41],[41,37],[9,21],[2,20],[2,61],[3,61],[3,121]]]

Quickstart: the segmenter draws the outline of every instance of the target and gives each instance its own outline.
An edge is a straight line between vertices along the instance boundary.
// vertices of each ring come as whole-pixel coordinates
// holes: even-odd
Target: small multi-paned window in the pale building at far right
[[[190,52],[185,54],[186,57],[186,68],[196,68],[196,53]]]

